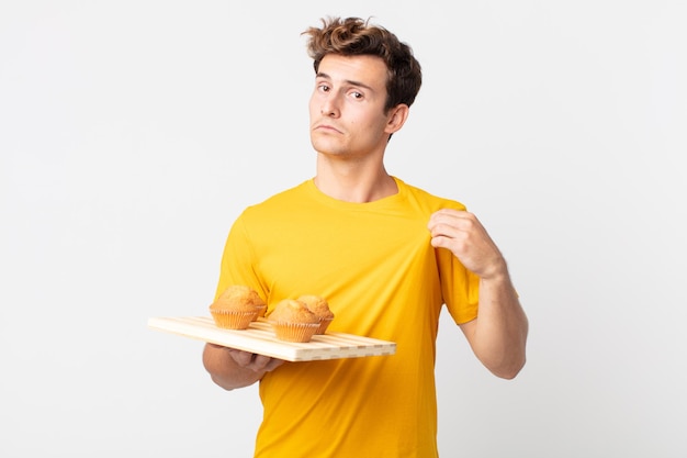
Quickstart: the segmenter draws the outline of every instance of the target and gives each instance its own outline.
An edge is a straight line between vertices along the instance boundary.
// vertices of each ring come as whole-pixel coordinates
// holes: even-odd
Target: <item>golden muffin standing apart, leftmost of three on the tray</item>
[[[264,305],[264,301],[255,290],[243,284],[234,284],[210,305],[210,313],[217,327],[246,329],[250,322],[258,317],[261,305]]]

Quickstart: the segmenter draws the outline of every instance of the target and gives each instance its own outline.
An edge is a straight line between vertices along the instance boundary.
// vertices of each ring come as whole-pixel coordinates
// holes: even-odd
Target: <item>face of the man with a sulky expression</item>
[[[313,147],[347,158],[383,154],[391,133],[385,102],[386,66],[381,58],[325,56],[309,101]]]

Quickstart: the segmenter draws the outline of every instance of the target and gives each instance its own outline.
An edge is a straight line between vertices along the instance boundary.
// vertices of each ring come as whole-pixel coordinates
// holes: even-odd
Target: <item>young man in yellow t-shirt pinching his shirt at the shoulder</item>
[[[203,362],[226,390],[260,381],[256,457],[437,457],[441,308],[506,379],[525,365],[527,317],[480,221],[384,168],[421,83],[412,49],[360,19],[330,19],[305,34],[316,74],[316,176],[236,220],[217,294],[248,284],[270,309],[323,295],[336,315],[329,331],[395,342],[396,354],[284,362],[207,344]]]

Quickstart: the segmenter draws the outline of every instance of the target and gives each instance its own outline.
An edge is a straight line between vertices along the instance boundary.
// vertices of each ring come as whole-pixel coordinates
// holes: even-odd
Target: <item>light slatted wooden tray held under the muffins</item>
[[[237,331],[215,326],[212,316],[156,316],[148,319],[148,327],[286,361],[358,358],[396,353],[396,344],[393,342],[345,333],[327,332],[313,336],[307,343],[279,340],[264,319],[252,322],[247,329]]]

